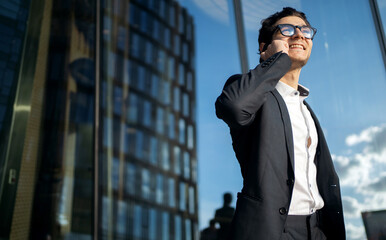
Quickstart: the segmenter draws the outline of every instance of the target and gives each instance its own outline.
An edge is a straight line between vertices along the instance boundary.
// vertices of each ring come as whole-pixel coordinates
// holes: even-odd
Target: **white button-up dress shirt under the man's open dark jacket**
[[[297,91],[281,81],[276,89],[287,105],[294,142],[295,183],[288,214],[309,215],[324,206],[316,183],[314,163],[318,134],[310,111],[303,102],[309,91],[301,85]]]

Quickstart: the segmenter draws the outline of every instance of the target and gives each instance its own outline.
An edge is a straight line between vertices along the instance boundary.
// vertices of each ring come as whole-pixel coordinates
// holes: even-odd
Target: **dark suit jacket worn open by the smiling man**
[[[287,54],[276,53],[247,74],[230,77],[217,98],[216,114],[230,127],[244,179],[231,239],[279,240],[283,232],[296,176],[290,117],[275,86],[290,66]],[[318,132],[315,164],[325,203],[320,228],[328,239],[345,239],[339,179],[320,124],[307,107]]]

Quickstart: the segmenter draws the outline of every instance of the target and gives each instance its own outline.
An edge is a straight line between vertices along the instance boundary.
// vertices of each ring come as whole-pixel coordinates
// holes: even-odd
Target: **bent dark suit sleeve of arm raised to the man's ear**
[[[231,128],[251,124],[266,94],[275,89],[290,67],[289,56],[278,52],[248,73],[231,76],[216,100],[217,117]]]

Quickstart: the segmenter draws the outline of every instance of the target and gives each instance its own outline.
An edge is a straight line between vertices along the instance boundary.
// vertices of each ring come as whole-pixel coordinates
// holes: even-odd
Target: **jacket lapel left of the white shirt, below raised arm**
[[[283,121],[284,125],[284,132],[285,132],[285,138],[287,143],[287,152],[291,161],[292,169],[295,169],[294,165],[294,143],[293,143],[293,137],[292,137],[292,127],[291,127],[291,119],[288,114],[287,106],[284,102],[284,99],[280,95],[280,93],[274,89],[272,91],[273,96],[276,98],[276,101],[279,105],[280,113],[281,113],[281,119]]]

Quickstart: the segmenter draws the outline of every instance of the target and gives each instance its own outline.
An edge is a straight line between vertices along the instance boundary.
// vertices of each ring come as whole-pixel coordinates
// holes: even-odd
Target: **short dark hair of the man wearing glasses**
[[[297,11],[294,8],[291,7],[285,7],[281,12],[276,12],[269,16],[266,19],[263,19],[261,21],[261,28],[259,31],[259,46],[261,43],[270,44],[272,42],[272,36],[276,30],[275,23],[279,21],[280,19],[288,16],[296,16],[303,19],[307,26],[311,26],[311,24],[308,22],[306,14],[303,12]],[[260,49],[259,49],[260,52]]]

